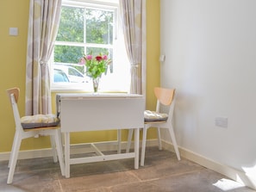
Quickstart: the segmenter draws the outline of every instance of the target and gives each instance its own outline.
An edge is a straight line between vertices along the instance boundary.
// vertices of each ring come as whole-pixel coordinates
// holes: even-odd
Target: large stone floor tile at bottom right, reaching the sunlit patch
[[[253,192],[237,183],[230,188],[222,189],[215,185],[223,179],[221,174],[211,170],[198,170],[190,173],[170,175],[140,183],[128,183],[125,185],[113,186],[112,192]]]

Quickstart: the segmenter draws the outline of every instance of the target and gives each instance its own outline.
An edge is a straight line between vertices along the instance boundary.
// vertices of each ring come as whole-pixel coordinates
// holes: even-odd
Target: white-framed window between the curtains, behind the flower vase
[[[63,1],[53,50],[52,90],[92,91],[91,78],[79,59],[88,53],[108,53],[112,60],[99,91],[129,90],[130,70],[122,28],[118,28],[118,1]]]

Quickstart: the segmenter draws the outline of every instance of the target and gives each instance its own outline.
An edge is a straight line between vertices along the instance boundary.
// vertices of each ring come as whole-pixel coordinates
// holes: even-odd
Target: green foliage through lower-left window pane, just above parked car
[[[78,64],[84,55],[82,46],[55,46],[54,62]]]

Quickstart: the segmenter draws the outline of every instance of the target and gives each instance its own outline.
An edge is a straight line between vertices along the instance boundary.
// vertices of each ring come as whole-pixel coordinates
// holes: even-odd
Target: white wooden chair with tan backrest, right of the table
[[[172,116],[173,116],[173,110],[175,105],[175,90],[156,87],[154,88],[154,94],[157,97],[156,110],[155,111],[146,110],[144,112],[144,127],[143,127],[141,158],[140,158],[141,166],[144,166],[145,149],[146,149],[146,141],[147,141],[147,129],[149,127],[157,127],[158,129],[157,133],[158,133],[158,139],[159,139],[159,150],[162,149],[160,128],[168,129],[171,135],[172,145],[174,146],[174,150],[176,152],[177,158],[178,160],[180,160],[178,145],[177,145],[176,137],[172,127]],[[165,114],[164,112],[161,111],[161,108],[160,108],[161,105],[166,106],[168,108],[168,111],[169,111],[168,114]],[[133,129],[130,129],[128,132],[127,152],[129,152],[132,135],[133,135]]]

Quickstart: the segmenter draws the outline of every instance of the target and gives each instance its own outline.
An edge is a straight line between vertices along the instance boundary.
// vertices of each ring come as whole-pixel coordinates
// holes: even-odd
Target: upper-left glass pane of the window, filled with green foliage
[[[57,40],[84,42],[83,8],[62,6]]]

